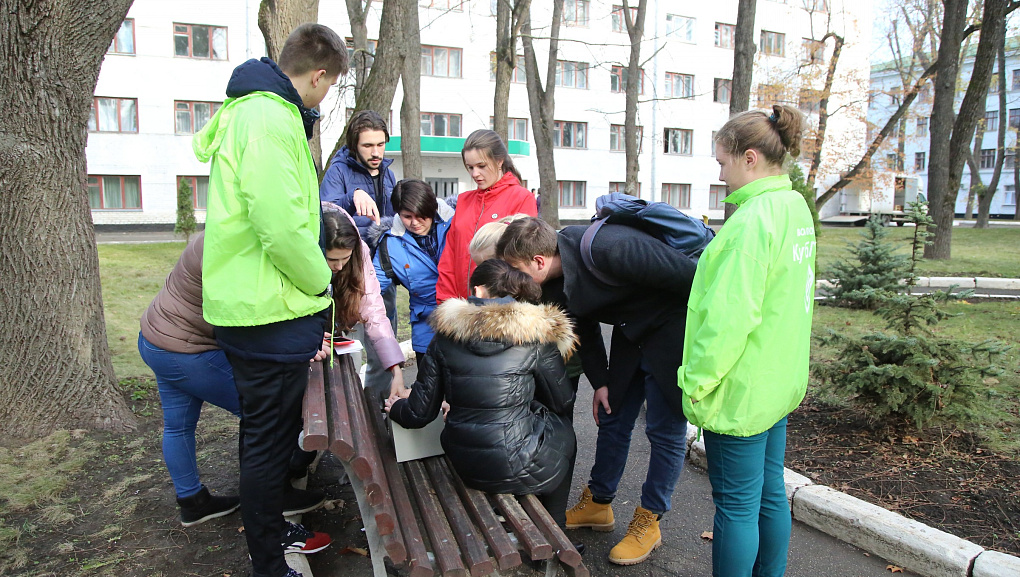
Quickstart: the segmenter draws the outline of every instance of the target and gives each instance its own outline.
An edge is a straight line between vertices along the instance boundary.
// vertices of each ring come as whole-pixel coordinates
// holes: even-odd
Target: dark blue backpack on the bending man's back
[[[648,202],[624,193],[610,193],[595,201],[592,224],[580,239],[580,258],[588,270],[610,286],[624,283],[599,270],[592,260],[592,242],[603,224],[624,224],[648,232],[697,262],[715,231],[664,202]]]

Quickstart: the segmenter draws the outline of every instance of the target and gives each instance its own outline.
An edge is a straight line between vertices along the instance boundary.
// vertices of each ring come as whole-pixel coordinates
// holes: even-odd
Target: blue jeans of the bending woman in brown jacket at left
[[[156,374],[163,406],[163,460],[177,497],[202,489],[195,458],[195,427],[202,404],[211,403],[238,417],[241,403],[234,371],[219,349],[204,353],[171,353],[138,335],[138,352]]]

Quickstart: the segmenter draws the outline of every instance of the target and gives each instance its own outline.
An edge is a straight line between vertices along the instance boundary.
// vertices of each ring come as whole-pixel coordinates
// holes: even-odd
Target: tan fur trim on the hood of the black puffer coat
[[[555,305],[498,303],[477,306],[464,299],[450,299],[432,312],[429,322],[437,333],[460,343],[553,343],[565,359],[577,346],[573,323]]]

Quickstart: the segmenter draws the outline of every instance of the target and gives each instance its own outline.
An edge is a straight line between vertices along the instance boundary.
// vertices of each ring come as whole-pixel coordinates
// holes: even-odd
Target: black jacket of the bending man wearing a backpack
[[[578,330],[584,373],[595,388],[609,386],[609,406],[616,410],[644,360],[669,406],[682,415],[676,371],[683,358],[687,300],[697,263],[638,228],[606,224],[592,243],[592,259],[599,270],[625,282],[610,286],[581,261],[585,228],[567,226],[557,240],[565,307],[577,317],[578,326],[613,325],[611,361],[606,359],[601,332]],[[595,338],[599,342],[590,346]]]

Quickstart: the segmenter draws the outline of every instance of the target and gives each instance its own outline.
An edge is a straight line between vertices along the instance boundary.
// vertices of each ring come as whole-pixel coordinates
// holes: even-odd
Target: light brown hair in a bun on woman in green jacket
[[[723,124],[715,134],[715,143],[730,156],[741,156],[754,149],[773,166],[782,166],[788,153],[801,154],[804,116],[787,104],[772,106],[772,114],[760,110],[742,112]]]

